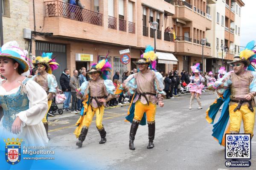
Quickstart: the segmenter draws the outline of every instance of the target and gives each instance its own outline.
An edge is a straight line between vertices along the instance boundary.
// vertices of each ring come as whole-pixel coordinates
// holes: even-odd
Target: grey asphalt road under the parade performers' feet
[[[78,115],[65,112],[50,117],[49,145],[68,152],[70,159],[85,165],[85,170],[87,164],[89,169],[108,170],[241,170],[225,166],[224,147],[212,138],[212,125],[205,120],[205,111],[216,95],[203,93],[201,110],[197,109],[196,100],[189,110],[189,98],[185,95],[167,99],[163,108],[157,107],[153,149],[146,148],[148,127],[140,126],[134,141],[136,150],[129,150],[131,124],[124,122],[128,106],[106,109],[103,124],[107,142],[99,144],[99,132],[92,122],[82,148],[76,146],[73,134]],[[252,166],[245,170],[256,169],[256,138],[252,139],[251,157]]]

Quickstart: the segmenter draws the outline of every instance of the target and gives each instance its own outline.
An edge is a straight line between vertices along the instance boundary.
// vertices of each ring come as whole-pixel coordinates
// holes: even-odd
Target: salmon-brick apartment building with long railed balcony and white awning
[[[154,30],[150,21],[157,21],[158,69],[168,71],[177,64],[173,56],[175,42],[172,34],[165,33],[173,26],[175,6],[172,0],[81,0],[82,6],[71,6],[67,1],[29,1],[29,24],[32,31],[52,33],[52,36],[33,35],[32,54],[52,51],[60,68],[54,71],[60,77],[64,68],[90,69],[90,64],[108,60],[121,74],[136,68],[132,61],[139,59],[146,45],[154,46]],[[130,49],[131,62],[120,62],[120,50]],[[111,78],[112,78],[111,76]],[[120,77],[121,79],[121,77]]]

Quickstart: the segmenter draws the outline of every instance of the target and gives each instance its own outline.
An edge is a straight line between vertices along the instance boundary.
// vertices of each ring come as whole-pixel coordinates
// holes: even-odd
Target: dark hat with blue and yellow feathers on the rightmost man
[[[250,41],[245,46],[244,50],[240,51],[239,56],[235,56],[232,62],[227,63],[234,63],[234,62],[243,62],[244,67],[248,67],[250,63],[256,63],[256,54],[253,48],[255,47],[255,41]]]

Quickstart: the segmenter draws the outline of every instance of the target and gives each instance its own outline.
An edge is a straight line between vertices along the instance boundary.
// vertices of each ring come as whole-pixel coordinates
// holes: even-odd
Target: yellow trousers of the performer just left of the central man
[[[85,115],[85,122],[83,126],[89,127],[91,122],[93,121],[93,116],[96,114],[96,126],[98,129],[102,129],[102,119],[104,114],[104,106],[102,105],[100,108],[93,108],[91,105],[88,106],[88,110]]]

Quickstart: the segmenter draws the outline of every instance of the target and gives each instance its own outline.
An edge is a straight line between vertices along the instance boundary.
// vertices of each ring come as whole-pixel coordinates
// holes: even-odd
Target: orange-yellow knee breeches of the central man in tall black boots
[[[134,119],[141,121],[144,112],[147,115],[147,121],[148,122],[154,122],[155,115],[156,115],[156,108],[157,105],[154,105],[153,103],[149,102],[148,104],[143,104],[140,101],[137,101],[135,103],[135,110],[134,110]]]

